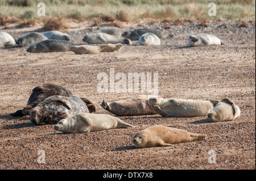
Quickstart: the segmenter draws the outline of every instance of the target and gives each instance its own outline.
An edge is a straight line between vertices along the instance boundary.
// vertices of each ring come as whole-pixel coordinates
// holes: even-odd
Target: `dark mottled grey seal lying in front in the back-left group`
[[[67,52],[73,43],[65,40],[44,40],[39,43],[32,44],[28,47],[27,52],[30,53],[46,53],[46,52]]]

